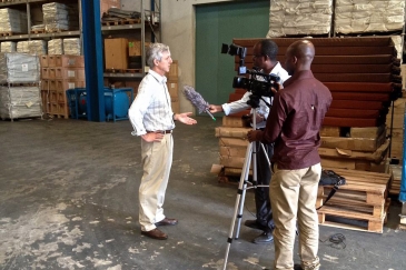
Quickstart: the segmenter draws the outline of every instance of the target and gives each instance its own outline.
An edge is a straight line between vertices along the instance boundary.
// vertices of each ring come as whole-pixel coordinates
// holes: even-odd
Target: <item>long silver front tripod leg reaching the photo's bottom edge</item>
[[[238,210],[240,211],[240,213],[238,216],[242,216],[241,209],[244,207],[244,200],[241,202],[240,198],[241,198],[242,194],[245,194],[245,190],[246,190],[246,187],[247,187],[247,181],[246,181],[245,178],[246,178],[246,174],[247,174],[247,179],[248,179],[249,164],[250,164],[250,161],[251,161],[251,151],[252,151],[252,143],[249,143],[248,147],[247,147],[247,151],[246,151],[246,159],[245,159],[244,167],[242,167],[242,173],[241,173],[241,177],[239,179],[237,198],[236,198],[236,203],[235,203],[235,207],[234,207],[232,220],[231,220],[230,229],[228,231],[227,248],[226,248],[225,261],[224,261],[224,264],[222,264],[224,270],[226,270],[226,268],[227,268],[228,253],[230,251],[230,246],[231,246],[231,242],[232,242],[234,224],[236,223]],[[241,219],[241,217],[238,217],[238,218]]]

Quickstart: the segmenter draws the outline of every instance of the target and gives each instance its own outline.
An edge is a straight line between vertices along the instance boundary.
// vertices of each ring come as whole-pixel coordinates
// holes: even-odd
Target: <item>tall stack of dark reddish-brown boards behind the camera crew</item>
[[[275,38],[278,60],[285,62],[287,48],[300,38]],[[234,39],[248,48],[245,63],[252,68],[252,47],[260,39]],[[324,120],[329,127],[379,127],[385,124],[390,101],[402,91],[400,60],[390,37],[313,38],[315,77],[333,94]],[[238,70],[239,58],[235,59]]]

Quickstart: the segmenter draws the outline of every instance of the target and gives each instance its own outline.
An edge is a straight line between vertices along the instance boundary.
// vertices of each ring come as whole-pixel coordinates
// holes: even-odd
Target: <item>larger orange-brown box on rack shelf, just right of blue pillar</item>
[[[128,68],[128,39],[105,39],[106,69]]]

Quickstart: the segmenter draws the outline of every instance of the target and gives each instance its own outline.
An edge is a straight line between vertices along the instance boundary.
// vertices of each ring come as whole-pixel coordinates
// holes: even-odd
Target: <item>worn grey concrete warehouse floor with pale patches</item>
[[[179,224],[162,228],[167,241],[140,234],[140,139],[130,136],[128,121],[0,121],[0,269],[222,269],[237,186],[210,174],[221,119],[197,120],[174,132],[165,209]],[[406,269],[399,206],[389,210],[383,234],[321,226],[321,240],[346,238],[345,249],[320,242],[321,269]],[[254,211],[247,192],[242,219]],[[251,243],[257,234],[241,228],[227,269],[271,267],[274,246]]]

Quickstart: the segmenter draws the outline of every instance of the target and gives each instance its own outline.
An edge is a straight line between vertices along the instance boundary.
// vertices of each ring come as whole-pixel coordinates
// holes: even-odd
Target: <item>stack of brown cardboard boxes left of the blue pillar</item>
[[[68,89],[85,88],[82,56],[41,56],[41,98],[44,113],[69,118]]]

